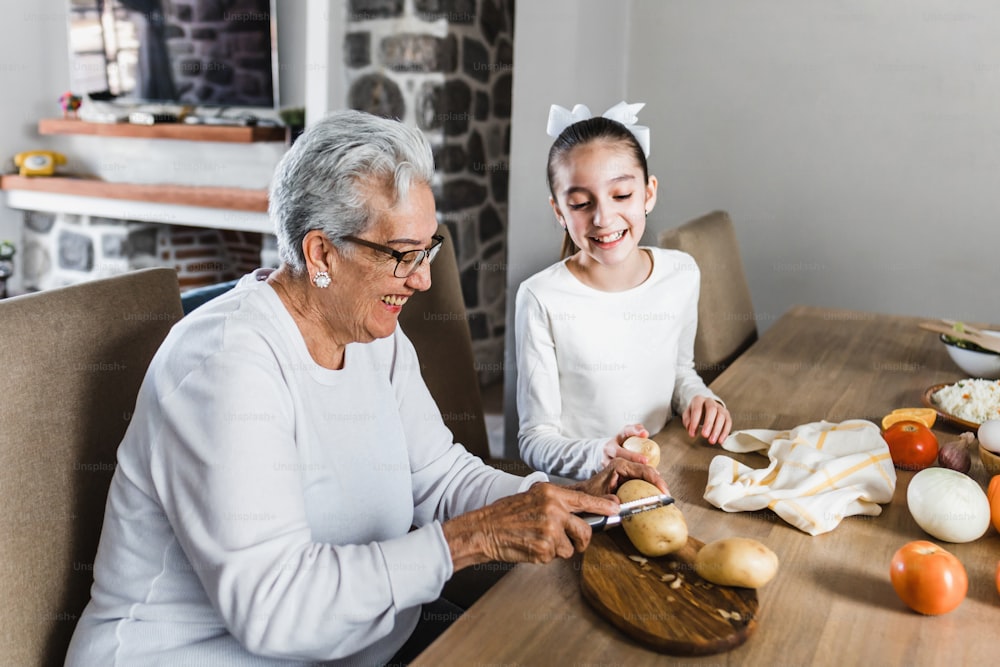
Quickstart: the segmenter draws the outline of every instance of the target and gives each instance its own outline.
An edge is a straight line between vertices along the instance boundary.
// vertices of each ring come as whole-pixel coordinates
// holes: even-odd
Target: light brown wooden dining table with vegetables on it
[[[826,419],[876,423],[893,408],[919,406],[924,390],[963,374],[918,320],[798,307],[785,314],[712,385],[735,428],[784,429]],[[960,429],[935,424],[944,443]],[[910,611],[889,582],[889,561],[911,540],[932,539],[906,507],[912,473],[900,472],[893,501],[879,517],[850,517],[811,537],[770,511],[725,513],[702,498],[709,461],[734,456],[692,442],[673,420],[655,439],[660,472],[691,535],[761,540],[781,558],[760,589],[756,632],[728,653],[665,656],[606,622],[580,594],[580,557],[519,565],[466,612],[416,665],[994,665],[1000,655],[1000,594],[995,572],[1000,535],[943,544],[965,565],[969,593],[958,609],[925,617]],[[971,474],[986,475],[973,457]],[[934,540],[936,541],[936,540]],[[940,542],[939,542],[940,543]]]

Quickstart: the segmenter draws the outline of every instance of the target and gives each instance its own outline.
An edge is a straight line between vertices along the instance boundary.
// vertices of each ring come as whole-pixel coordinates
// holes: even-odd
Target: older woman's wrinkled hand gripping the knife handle
[[[590,544],[590,526],[577,512],[617,511],[616,498],[540,483],[455,517],[442,528],[456,570],[489,561],[548,563]]]

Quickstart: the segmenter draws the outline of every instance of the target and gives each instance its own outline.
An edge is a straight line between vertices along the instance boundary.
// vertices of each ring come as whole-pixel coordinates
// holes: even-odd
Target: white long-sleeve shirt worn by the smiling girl
[[[626,424],[656,433],[695,396],[718,399],[694,369],[698,265],[677,250],[644,249],[653,270],[629,290],[588,287],[566,260],[518,289],[518,442],[537,470],[590,477]]]

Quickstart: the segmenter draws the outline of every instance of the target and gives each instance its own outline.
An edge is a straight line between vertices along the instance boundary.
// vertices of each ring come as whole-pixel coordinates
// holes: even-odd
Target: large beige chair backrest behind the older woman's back
[[[90,599],[118,444],[180,317],[166,268],[0,301],[5,664],[63,664]]]

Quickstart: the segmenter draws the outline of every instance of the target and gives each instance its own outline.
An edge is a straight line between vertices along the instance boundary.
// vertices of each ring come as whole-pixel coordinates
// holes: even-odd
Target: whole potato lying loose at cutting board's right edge
[[[777,574],[778,556],[757,540],[727,537],[701,548],[694,571],[720,586],[760,588]]]

